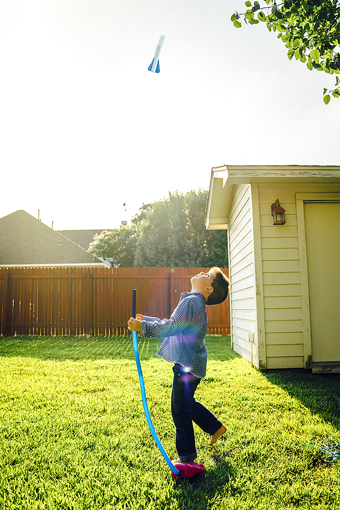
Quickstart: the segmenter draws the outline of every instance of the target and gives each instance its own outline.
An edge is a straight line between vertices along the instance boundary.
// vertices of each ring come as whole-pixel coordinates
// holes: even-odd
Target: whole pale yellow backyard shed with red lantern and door
[[[228,230],[232,348],[340,372],[340,166],[213,168],[205,224]]]

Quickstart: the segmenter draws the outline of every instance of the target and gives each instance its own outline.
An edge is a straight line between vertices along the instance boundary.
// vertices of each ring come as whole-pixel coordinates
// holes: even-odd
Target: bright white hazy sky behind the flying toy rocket
[[[339,165],[335,75],[290,61],[264,23],[234,28],[245,9],[0,0],[0,217],[117,228],[169,191],[207,189],[212,167]]]

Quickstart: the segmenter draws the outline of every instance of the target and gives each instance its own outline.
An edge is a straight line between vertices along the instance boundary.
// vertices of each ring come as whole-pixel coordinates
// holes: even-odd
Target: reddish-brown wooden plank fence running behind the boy
[[[0,268],[0,334],[126,335],[132,289],[137,313],[169,318],[180,293],[191,290],[190,278],[207,269]],[[206,310],[208,333],[229,334],[229,299]]]

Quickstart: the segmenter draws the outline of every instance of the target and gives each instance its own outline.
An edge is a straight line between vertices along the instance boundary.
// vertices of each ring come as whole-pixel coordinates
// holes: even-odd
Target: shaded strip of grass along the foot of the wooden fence
[[[155,358],[162,339],[138,337],[141,361]],[[206,337],[208,358],[225,361],[240,357],[230,348],[230,337]],[[135,360],[132,335],[97,337],[0,337],[0,356],[41,360]]]

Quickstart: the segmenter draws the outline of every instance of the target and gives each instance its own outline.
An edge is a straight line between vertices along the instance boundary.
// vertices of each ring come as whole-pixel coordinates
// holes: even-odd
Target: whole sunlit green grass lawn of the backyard
[[[195,427],[206,477],[174,479],[144,416],[132,337],[0,337],[0,510],[340,508],[340,374],[261,373],[206,337],[196,398],[227,426]],[[139,339],[151,418],[170,458],[172,370]],[[306,445],[309,443],[313,447]]]

